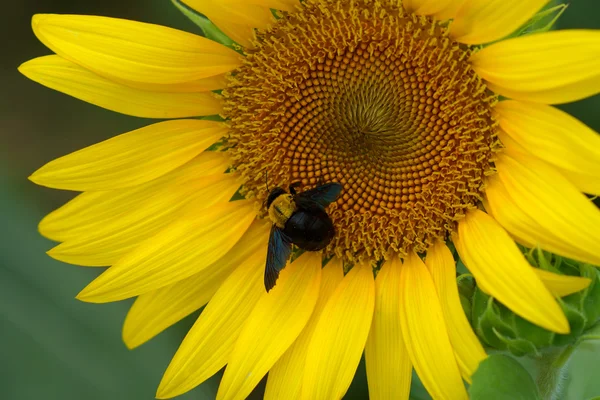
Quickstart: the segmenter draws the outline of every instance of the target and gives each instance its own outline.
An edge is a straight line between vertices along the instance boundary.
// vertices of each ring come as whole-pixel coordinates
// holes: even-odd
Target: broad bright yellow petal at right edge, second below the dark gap
[[[534,243],[554,251],[556,242],[562,242],[559,246],[566,247],[568,254],[564,254],[564,250],[557,254],[600,265],[600,210],[587,197],[558,171],[534,156],[500,154],[496,166],[506,193],[541,228],[528,232],[535,238]],[[503,207],[493,195],[488,195],[488,201],[493,209]],[[552,246],[552,250],[547,245]]]

